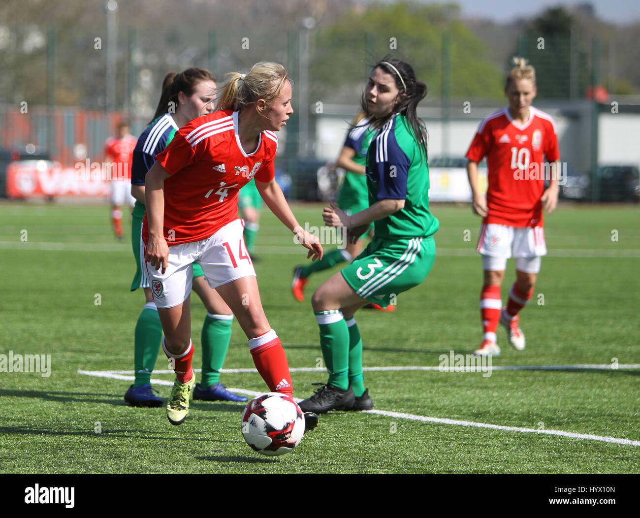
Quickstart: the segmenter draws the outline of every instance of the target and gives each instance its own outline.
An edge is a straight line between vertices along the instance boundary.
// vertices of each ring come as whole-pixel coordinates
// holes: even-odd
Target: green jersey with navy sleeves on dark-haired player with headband
[[[440,226],[429,211],[429,168],[404,115],[388,120],[367,152],[369,205],[379,200],[404,200],[404,208],[374,222],[376,238],[419,238]]]

